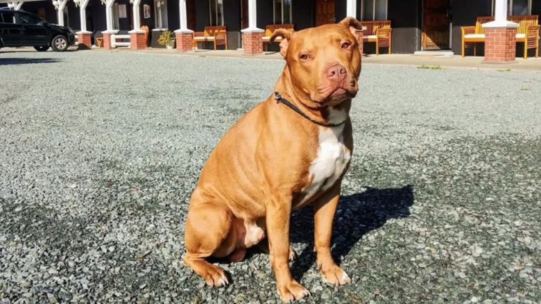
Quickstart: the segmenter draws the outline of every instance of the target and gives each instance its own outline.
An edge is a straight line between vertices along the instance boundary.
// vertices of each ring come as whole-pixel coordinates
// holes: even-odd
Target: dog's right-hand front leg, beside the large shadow
[[[337,182],[314,205],[314,249],[318,255],[318,267],[323,278],[336,286],[351,282],[347,273],[332,260],[330,249],[332,221],[340,198],[340,187],[341,183]]]

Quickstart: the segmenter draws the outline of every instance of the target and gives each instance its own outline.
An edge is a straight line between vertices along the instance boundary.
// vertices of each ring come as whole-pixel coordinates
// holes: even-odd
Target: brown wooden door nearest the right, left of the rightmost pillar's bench
[[[423,0],[423,50],[449,49],[449,0]]]

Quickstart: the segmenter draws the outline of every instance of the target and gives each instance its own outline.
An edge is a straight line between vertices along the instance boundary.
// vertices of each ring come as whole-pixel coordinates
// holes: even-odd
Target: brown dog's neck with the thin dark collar
[[[339,105],[321,105],[312,101],[310,95],[291,85],[291,74],[287,66],[275,84],[275,92],[278,92],[287,101],[295,105],[311,121],[318,121],[320,125],[338,125],[347,120],[350,115],[351,99],[343,101]]]

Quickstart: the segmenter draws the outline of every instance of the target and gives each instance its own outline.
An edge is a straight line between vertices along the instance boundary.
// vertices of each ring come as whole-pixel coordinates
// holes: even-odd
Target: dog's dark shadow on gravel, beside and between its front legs
[[[402,188],[368,188],[365,192],[342,196],[334,217],[331,248],[337,264],[353,246],[372,230],[383,226],[388,219],[409,217],[413,205],[413,186]],[[314,253],[314,209],[304,208],[291,216],[291,242],[306,243],[304,251],[293,262],[291,274],[295,280],[316,263]]]

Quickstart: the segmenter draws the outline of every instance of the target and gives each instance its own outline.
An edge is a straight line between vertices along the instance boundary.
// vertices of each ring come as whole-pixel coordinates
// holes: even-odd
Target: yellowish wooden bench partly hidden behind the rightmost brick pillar
[[[528,49],[535,49],[535,57],[539,56],[539,28],[538,15],[509,16],[508,20],[519,24],[515,39],[517,43],[524,43],[524,59],[528,56]],[[485,42],[485,28],[482,24],[494,21],[494,16],[477,17],[475,26],[462,26],[462,57],[468,43],[474,44],[474,56],[477,53],[476,42]]]

